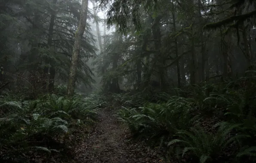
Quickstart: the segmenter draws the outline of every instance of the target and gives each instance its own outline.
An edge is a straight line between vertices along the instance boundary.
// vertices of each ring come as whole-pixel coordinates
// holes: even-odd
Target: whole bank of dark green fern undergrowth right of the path
[[[169,162],[253,163],[256,77],[250,73],[237,81],[175,89],[176,96],[159,93],[152,97],[156,103],[139,94],[113,94],[111,100],[134,137],[164,148]]]

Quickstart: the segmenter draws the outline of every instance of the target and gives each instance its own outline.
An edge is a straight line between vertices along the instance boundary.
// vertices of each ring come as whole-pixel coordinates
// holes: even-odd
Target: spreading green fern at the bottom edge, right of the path
[[[177,136],[180,139],[174,139],[168,143],[168,146],[180,143],[183,148],[183,156],[189,151],[198,157],[200,163],[213,161],[219,154],[230,144],[236,142],[237,139],[247,138],[248,135],[238,134],[236,136],[229,135],[233,129],[241,124],[227,125],[218,124],[218,132],[213,135],[205,132],[201,127],[198,129],[191,128],[191,131],[179,131]]]

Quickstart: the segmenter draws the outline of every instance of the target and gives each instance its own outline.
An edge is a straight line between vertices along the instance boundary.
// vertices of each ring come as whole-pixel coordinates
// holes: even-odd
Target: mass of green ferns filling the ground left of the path
[[[94,123],[100,103],[94,96],[46,94],[37,100],[21,100],[2,95],[0,158],[23,162],[27,158],[19,156],[28,151],[58,152],[70,134]]]

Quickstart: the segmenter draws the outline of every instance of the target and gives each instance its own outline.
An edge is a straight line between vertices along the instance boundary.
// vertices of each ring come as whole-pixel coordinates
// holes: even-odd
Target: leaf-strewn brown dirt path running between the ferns
[[[158,153],[142,142],[129,141],[129,133],[117,123],[113,111],[99,111],[99,122],[77,149],[79,163],[157,163]],[[82,148],[81,148],[82,146]]]

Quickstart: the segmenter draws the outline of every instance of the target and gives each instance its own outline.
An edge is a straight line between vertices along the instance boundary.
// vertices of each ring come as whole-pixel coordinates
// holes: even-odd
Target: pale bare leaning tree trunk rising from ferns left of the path
[[[81,48],[82,36],[85,32],[85,25],[87,21],[88,15],[88,0],[82,0],[82,12],[80,16],[80,21],[78,25],[78,29],[75,34],[75,42],[73,47],[73,54],[71,59],[70,73],[68,78],[67,85],[67,96],[73,96],[75,91],[75,83],[76,83],[76,72],[77,72],[77,64],[79,59],[79,51]]]

